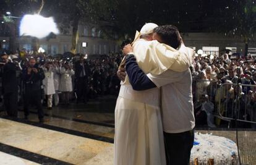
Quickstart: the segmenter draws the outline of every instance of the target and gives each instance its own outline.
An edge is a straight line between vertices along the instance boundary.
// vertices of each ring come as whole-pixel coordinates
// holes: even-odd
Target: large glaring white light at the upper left
[[[53,32],[58,35],[59,30],[53,17],[43,17],[41,15],[24,15],[20,21],[20,36],[35,36],[44,38]]]

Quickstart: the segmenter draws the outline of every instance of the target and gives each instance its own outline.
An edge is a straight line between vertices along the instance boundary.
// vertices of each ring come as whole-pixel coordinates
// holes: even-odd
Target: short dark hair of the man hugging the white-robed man
[[[168,44],[174,49],[181,45],[181,36],[179,30],[174,25],[163,25],[154,28],[154,32],[160,36],[164,44]]]

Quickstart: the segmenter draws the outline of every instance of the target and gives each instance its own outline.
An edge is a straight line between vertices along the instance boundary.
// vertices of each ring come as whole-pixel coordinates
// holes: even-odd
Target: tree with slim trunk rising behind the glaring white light
[[[114,0],[6,0],[12,14],[22,17],[25,14],[53,16],[62,30],[72,28],[72,53],[75,53],[78,40],[79,22],[97,23],[109,20],[115,7]]]

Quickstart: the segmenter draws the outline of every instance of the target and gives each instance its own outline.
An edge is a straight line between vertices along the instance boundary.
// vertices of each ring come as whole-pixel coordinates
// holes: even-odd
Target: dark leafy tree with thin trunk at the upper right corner
[[[220,9],[216,10],[215,32],[228,36],[243,38],[245,43],[244,55],[247,56],[249,41],[256,32],[256,2],[254,0],[223,1]]]

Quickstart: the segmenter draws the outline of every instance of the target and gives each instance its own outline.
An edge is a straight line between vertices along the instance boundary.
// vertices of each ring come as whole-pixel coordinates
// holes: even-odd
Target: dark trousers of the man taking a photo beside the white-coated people
[[[38,111],[38,119],[43,119],[43,107],[41,104],[41,90],[26,90],[24,99],[24,113],[25,116],[29,115],[30,104],[35,104]]]

